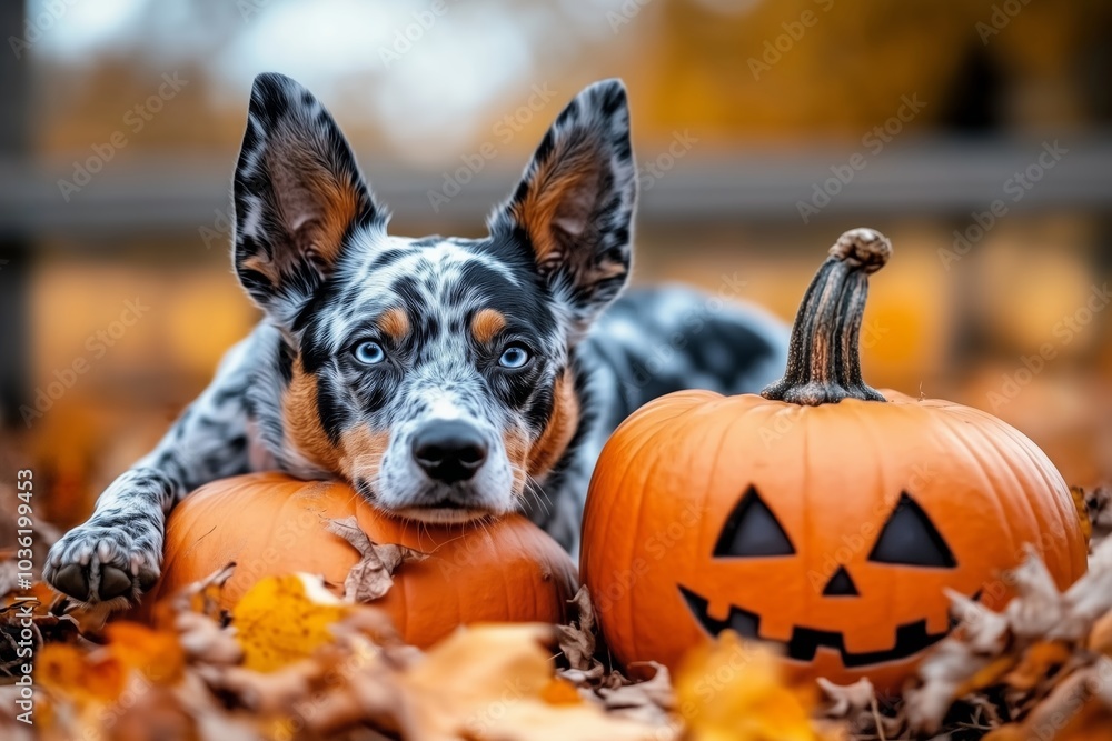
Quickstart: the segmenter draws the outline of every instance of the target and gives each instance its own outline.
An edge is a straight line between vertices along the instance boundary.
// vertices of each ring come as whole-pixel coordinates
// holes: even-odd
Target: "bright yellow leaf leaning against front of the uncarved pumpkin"
[[[351,609],[328,592],[319,577],[267,577],[231,611],[244,665],[270,672],[312,655],[335,640],[331,625]]]

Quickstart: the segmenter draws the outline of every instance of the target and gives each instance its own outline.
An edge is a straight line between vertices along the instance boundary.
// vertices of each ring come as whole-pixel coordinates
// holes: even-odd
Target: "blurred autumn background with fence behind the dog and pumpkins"
[[[400,234],[476,236],[583,86],[625,79],[637,282],[790,320],[825,250],[895,244],[866,378],[1112,479],[1112,3],[9,0],[2,474],[83,520],[257,313],[230,272],[254,76],[330,108]]]

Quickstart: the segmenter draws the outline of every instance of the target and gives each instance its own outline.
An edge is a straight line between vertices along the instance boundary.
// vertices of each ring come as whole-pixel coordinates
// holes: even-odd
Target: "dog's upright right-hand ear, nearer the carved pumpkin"
[[[583,331],[628,280],[636,198],[625,86],[606,80],[560,112],[488,226],[494,236],[528,242]]]

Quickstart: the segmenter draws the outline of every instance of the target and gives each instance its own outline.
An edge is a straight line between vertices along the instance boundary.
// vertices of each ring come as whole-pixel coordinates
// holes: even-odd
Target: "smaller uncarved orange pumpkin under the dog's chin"
[[[147,619],[161,595],[229,561],[237,565],[222,591],[225,608],[264,577],[294,571],[324,574],[339,594],[359,552],[325,523],[348,517],[375,543],[429,554],[405,562],[390,591],[374,602],[415,645],[429,645],[464,623],[562,622],[577,589],[572,559],[524,517],[481,525],[403,522],[344,483],[252,473],[201,487],[175,508],[162,574],[138,618]]]

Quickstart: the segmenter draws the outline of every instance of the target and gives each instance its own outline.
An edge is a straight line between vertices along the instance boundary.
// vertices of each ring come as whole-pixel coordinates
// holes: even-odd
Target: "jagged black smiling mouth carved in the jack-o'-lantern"
[[[792,629],[792,639],[787,642],[773,641],[761,637],[761,615],[748,610],[743,610],[735,605],[729,605],[729,614],[725,620],[716,620],[707,614],[709,602],[689,589],[679,587],[679,593],[691,611],[698,618],[703,629],[711,635],[717,635],[728,629],[734,630],[743,638],[775,643],[783,647],[785,654],[795,661],[814,661],[818,647],[824,647],[837,651],[842,657],[842,665],[846,669],[858,667],[871,667],[891,661],[902,661],[915,655],[924,649],[934,645],[954,629],[954,621],[941,633],[926,632],[926,620],[904,623],[896,627],[896,644],[887,651],[866,651],[855,653],[845,648],[845,637],[835,631],[815,630],[814,628],[803,628],[796,625]],[[977,592],[973,600],[980,600],[981,592]]]

